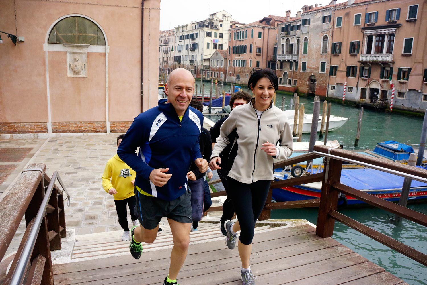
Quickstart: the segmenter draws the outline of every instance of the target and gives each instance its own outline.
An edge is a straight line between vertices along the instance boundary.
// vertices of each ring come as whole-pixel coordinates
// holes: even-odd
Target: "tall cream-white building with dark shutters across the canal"
[[[203,21],[175,27],[174,68],[186,68],[199,77],[200,71],[209,69],[209,60],[216,50],[228,48],[228,29],[240,25],[222,10]]]

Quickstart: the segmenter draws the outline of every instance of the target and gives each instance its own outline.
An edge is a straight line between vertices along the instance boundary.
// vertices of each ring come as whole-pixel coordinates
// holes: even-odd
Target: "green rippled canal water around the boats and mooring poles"
[[[200,82],[198,82],[200,84]],[[211,84],[205,83],[205,94],[209,94]],[[200,88],[200,86],[199,86]],[[225,91],[229,91],[230,85],[224,86]],[[242,90],[248,91],[242,86]],[[200,89],[198,94],[200,94]],[[214,93],[214,92],[213,92]],[[162,94],[159,91],[159,94]],[[252,92],[249,92],[252,94]],[[292,95],[276,95],[275,105],[280,107],[282,97],[285,97],[286,105],[290,104]],[[299,102],[304,103],[305,113],[313,111],[313,97],[300,97]],[[320,101],[320,113],[322,114],[322,103]],[[285,106],[285,110],[289,106]],[[359,108],[332,103],[331,115],[349,118],[341,128],[328,133],[328,140],[338,140],[344,146],[344,149],[371,149],[381,141],[395,140],[407,144],[419,144],[421,137],[422,117],[412,117],[397,113],[379,112],[376,110],[365,109],[362,118],[362,128],[360,132],[359,146],[354,147],[354,140],[357,130],[357,118]],[[217,116],[210,116],[211,120],[216,121]],[[303,134],[302,140],[309,141],[310,134]],[[323,140],[323,139],[319,139]],[[427,214],[426,204],[409,205],[408,208]],[[427,228],[418,225],[412,221],[403,219],[400,223],[394,223],[390,219],[393,217],[389,212],[381,209],[349,208],[340,210],[342,214],[359,221],[385,235],[407,244],[422,253],[427,254]],[[289,209],[274,210],[272,218],[276,219],[306,219],[316,224],[317,209]],[[412,259],[397,253],[394,250],[374,241],[371,238],[336,222],[333,238],[355,252],[364,256],[366,259],[378,264],[395,276],[403,279],[410,285],[427,285],[427,268]]]

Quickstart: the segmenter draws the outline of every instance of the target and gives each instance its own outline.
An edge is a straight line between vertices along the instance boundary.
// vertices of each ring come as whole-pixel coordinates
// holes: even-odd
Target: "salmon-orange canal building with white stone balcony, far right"
[[[387,105],[391,77],[393,105],[427,109],[427,2],[423,0],[348,1],[334,12],[328,96]]]

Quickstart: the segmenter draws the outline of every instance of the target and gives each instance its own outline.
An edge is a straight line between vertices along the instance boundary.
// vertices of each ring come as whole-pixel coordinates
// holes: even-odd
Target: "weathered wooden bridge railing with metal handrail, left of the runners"
[[[29,165],[0,202],[0,260],[24,216],[26,224],[9,272],[0,276],[0,283],[23,284],[26,277],[26,284],[53,285],[50,251],[60,250],[61,237],[67,235],[63,210],[66,189],[56,171],[52,179],[45,171],[44,164]],[[56,179],[63,191],[55,185]],[[67,199],[69,203],[69,196]]]

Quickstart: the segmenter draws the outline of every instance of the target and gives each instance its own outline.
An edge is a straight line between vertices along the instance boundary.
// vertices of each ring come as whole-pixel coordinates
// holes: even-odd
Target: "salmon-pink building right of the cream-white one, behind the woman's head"
[[[276,69],[277,29],[285,20],[285,17],[268,15],[229,29],[227,82],[247,84],[252,68]]]

